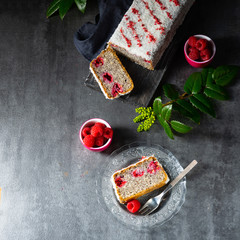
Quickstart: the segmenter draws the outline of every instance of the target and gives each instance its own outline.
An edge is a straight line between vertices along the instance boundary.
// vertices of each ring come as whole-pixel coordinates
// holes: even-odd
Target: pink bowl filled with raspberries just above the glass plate
[[[86,121],[79,130],[83,146],[95,152],[106,150],[112,142],[113,130],[108,122],[100,118]]]

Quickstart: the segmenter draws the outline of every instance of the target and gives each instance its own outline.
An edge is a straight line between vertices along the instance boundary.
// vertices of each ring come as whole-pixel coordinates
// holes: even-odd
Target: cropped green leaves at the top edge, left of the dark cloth
[[[77,8],[82,13],[84,13],[87,5],[87,0],[54,0],[47,9],[47,17],[50,17],[58,10],[59,16],[63,20],[74,2],[77,5]]]

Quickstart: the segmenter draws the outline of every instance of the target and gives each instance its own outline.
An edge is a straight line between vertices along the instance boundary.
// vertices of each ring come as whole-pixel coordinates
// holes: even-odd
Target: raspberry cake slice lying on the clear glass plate
[[[157,158],[150,156],[116,171],[111,181],[119,202],[126,203],[164,186],[169,177]]]

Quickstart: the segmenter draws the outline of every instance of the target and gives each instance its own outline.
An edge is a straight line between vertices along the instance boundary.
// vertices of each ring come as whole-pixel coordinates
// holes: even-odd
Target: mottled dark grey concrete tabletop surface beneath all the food
[[[73,8],[64,21],[46,19],[49,3],[0,3],[0,239],[239,239],[239,76],[228,88],[231,99],[216,102],[217,119],[203,115],[199,126],[174,141],[157,124],[137,133],[134,106],[107,101],[83,84],[88,62],[75,49],[73,34],[94,20],[96,2],[84,15]],[[194,9],[189,35],[215,40],[215,66],[240,65],[240,2],[203,0]],[[179,47],[163,83],[181,89],[194,71]],[[93,117],[114,129],[105,153],[89,152],[79,142],[79,127]],[[183,166],[192,159],[200,164],[187,177],[181,211],[141,233],[97,202],[95,181],[111,151],[146,139],[169,149]]]

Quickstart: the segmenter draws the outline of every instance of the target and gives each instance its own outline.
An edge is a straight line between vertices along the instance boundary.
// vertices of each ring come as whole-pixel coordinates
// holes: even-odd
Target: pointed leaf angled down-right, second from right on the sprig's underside
[[[200,111],[216,117],[215,111],[212,107],[211,102],[203,94],[195,94],[189,98],[190,102],[194,107],[198,108]]]

